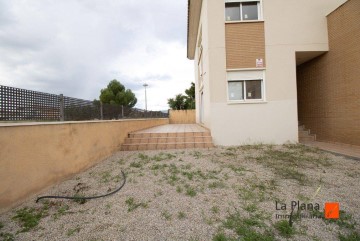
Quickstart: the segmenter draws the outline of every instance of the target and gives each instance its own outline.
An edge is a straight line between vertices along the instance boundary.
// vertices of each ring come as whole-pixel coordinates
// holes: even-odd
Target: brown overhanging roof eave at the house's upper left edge
[[[188,0],[187,57],[194,59],[202,0]]]

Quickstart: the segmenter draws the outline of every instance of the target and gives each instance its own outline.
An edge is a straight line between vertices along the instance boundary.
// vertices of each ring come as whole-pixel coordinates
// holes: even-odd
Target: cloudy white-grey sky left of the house
[[[0,0],[0,85],[93,100],[112,79],[168,109],[194,81],[187,0]]]

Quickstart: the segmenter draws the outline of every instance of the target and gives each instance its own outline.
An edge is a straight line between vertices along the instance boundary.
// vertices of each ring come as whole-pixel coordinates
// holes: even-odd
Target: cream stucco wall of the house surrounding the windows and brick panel
[[[227,101],[224,1],[203,1],[200,25],[206,46],[204,89],[209,95],[204,124],[211,129],[216,145],[298,141],[295,52],[328,50],[326,15],[345,0],[262,2],[266,100],[260,104],[230,104]],[[197,73],[196,63],[195,60]],[[197,106],[197,109],[198,116],[200,108]]]

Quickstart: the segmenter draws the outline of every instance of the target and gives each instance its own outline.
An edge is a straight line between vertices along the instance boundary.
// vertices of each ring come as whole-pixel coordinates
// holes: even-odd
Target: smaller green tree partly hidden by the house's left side
[[[177,94],[175,98],[168,99],[168,105],[173,110],[195,109],[195,84],[192,82],[185,94]]]

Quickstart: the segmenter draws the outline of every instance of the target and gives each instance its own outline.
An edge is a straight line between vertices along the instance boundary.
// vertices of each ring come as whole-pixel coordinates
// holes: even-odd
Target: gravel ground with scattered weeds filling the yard
[[[118,152],[38,196],[108,193],[121,170],[127,182],[108,197],[29,198],[0,215],[0,239],[360,240],[359,161],[302,145]],[[307,210],[290,226],[276,215],[292,201]],[[324,218],[325,202],[340,203],[340,219]]]

